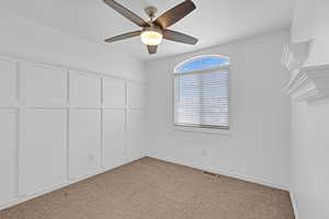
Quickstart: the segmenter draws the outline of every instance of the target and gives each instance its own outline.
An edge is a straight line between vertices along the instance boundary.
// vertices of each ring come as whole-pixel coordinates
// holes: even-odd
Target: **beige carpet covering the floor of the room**
[[[284,191],[145,158],[13,208],[1,219],[293,219]]]

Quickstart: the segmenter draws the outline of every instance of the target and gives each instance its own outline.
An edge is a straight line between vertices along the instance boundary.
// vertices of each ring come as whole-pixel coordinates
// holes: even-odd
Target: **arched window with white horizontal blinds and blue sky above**
[[[202,56],[174,69],[174,125],[229,129],[229,58]]]

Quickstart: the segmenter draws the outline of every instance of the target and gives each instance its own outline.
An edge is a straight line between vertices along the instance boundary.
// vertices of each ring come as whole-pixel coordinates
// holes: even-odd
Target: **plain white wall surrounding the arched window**
[[[147,65],[149,155],[272,186],[287,186],[290,102],[281,67],[288,32],[280,31]],[[175,130],[173,69],[198,55],[231,59],[228,136]]]

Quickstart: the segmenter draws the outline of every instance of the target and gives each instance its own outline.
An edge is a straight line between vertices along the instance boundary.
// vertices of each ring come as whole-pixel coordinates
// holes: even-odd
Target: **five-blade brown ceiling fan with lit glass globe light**
[[[140,31],[134,31],[107,38],[105,39],[106,43],[140,36],[141,42],[147,46],[148,53],[151,55],[157,53],[158,45],[162,42],[162,38],[190,45],[195,45],[198,41],[193,36],[168,30],[169,26],[186,16],[196,8],[191,0],[185,0],[175,5],[160,15],[157,20],[154,20],[158,11],[157,8],[147,7],[145,12],[150,18],[148,22],[114,0],[103,1],[116,12],[141,27]]]

